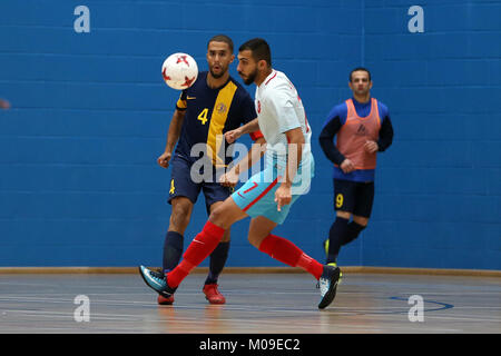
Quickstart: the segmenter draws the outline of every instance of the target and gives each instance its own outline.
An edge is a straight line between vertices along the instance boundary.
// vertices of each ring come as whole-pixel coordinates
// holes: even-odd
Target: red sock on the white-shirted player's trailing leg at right
[[[301,248],[289,240],[279,236],[266,236],[259,245],[259,250],[288,266],[303,268],[316,279],[322,276],[324,270],[322,264],[303,253]]]

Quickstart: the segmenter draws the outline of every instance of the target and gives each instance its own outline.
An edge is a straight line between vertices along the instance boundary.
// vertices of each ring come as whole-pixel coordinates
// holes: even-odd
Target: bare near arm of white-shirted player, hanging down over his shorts
[[[285,132],[287,137],[287,164],[285,168],[285,177],[282,177],[282,182],[275,191],[275,201],[277,210],[281,211],[284,205],[292,201],[292,184],[296,176],[303,157],[303,146],[305,144],[303,130],[301,127],[294,128]]]

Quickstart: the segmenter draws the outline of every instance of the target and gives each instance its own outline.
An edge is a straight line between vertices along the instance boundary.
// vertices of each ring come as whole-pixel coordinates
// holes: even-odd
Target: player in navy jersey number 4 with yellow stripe
[[[165,152],[158,158],[159,166],[171,167],[168,198],[171,214],[160,275],[170,271],[179,263],[184,234],[200,191],[204,192],[207,212],[210,214],[229,197],[233,191],[230,186],[236,184],[225,181],[222,185],[216,177],[216,170],[227,167],[233,159],[226,156],[223,135],[255,119],[257,113],[248,92],[229,76],[228,68],[235,59],[233,49],[232,39],[224,34],[208,41],[209,71],[200,72],[195,83],[183,90],[169,125]],[[250,134],[250,137],[257,142],[263,140],[259,131]],[[200,159],[209,161],[198,165]],[[217,280],[228,249],[229,230],[210,255],[209,273],[203,288],[210,304],[225,303]],[[174,296],[166,298],[159,295],[158,303],[173,304]]]

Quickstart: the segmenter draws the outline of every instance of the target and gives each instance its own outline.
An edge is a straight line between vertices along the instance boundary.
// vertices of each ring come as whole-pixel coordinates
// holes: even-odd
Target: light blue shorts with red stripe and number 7
[[[301,175],[301,171],[298,171],[297,175]],[[310,176],[310,174],[308,177],[306,177],[306,184],[308,186],[312,177],[313,176]],[[304,182],[305,181],[303,181],[303,184]],[[295,182],[293,188],[301,184],[302,181]],[[281,211],[278,211],[275,201],[275,191],[279,186],[281,178],[278,177],[277,169],[275,168],[275,165],[269,165],[263,171],[252,176],[245,185],[232,195],[232,198],[235,204],[252,218],[264,216],[276,224],[283,224],[292,205],[302,195],[294,195],[293,191],[291,204],[283,206]]]

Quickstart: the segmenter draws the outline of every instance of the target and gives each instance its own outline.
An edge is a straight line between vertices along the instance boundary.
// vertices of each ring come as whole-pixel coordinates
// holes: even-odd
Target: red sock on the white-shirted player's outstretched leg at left
[[[202,264],[217,247],[224,234],[223,228],[207,221],[204,229],[189,244],[180,264],[167,274],[169,287],[179,286],[191,269]]]

